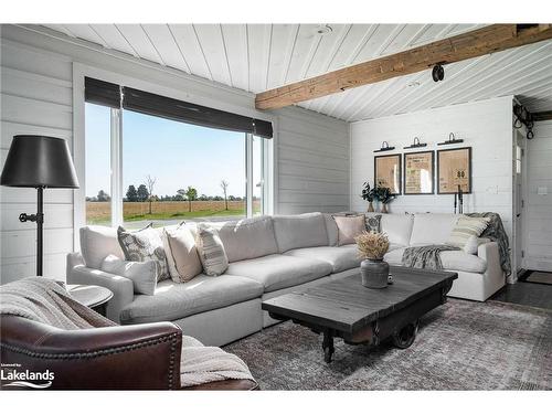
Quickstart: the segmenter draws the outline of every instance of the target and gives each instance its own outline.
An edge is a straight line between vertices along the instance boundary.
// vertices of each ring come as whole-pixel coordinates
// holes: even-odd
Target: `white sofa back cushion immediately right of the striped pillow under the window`
[[[231,263],[278,253],[273,220],[267,215],[226,222],[217,229]]]

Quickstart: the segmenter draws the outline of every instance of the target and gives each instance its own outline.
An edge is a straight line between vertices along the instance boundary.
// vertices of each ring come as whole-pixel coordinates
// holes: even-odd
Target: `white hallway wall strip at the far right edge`
[[[527,238],[524,267],[552,272],[552,120],[535,124],[527,144]],[[539,195],[545,188],[546,195]]]

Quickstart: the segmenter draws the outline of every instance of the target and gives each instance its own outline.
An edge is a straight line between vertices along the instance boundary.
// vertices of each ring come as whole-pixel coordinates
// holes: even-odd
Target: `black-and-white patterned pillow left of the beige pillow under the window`
[[[161,233],[155,230],[151,224],[136,232],[119,226],[117,237],[127,261],[153,261],[157,264],[157,279],[170,278]]]

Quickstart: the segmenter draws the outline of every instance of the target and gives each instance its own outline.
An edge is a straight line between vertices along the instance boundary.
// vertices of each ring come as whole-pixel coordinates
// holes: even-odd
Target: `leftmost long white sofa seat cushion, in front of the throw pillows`
[[[136,295],[123,308],[121,323],[147,323],[176,320],[219,309],[263,295],[263,285],[246,277],[199,275],[187,283],[163,280],[153,296]]]

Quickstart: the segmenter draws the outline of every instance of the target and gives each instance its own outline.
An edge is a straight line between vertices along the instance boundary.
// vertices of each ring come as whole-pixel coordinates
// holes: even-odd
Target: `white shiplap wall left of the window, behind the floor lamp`
[[[72,147],[72,65],[31,50],[1,43],[1,160],[13,135],[44,134],[65,138]],[[73,248],[73,191],[44,194],[44,274],[65,278],[65,254]],[[20,223],[36,210],[36,190],[0,188],[1,280],[35,272],[35,223]]]

